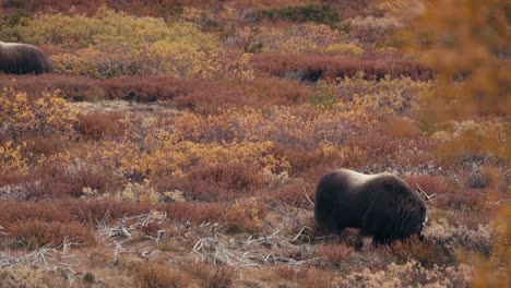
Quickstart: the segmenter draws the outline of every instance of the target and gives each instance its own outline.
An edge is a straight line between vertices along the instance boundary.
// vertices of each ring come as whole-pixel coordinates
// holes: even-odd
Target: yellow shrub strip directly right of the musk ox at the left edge
[[[121,75],[173,75],[253,79],[249,53],[204,52],[186,43],[157,41],[144,49],[102,51],[86,48],[51,56],[57,73],[107,79]]]

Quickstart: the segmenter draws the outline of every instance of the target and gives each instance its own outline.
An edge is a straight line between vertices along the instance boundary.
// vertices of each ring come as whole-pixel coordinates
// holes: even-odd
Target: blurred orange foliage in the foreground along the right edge
[[[511,131],[510,19],[511,4],[504,0],[428,0],[413,28],[402,35],[408,51],[437,72],[437,88],[421,95],[418,119],[423,129],[435,132],[466,119],[492,119],[503,124],[503,137],[485,141],[491,137],[488,127],[488,133],[467,134],[466,143],[449,151],[456,153],[456,147],[460,152],[471,143],[483,143],[486,153],[504,158],[504,175],[509,175],[511,158],[507,145]],[[498,231],[494,252],[489,259],[476,260],[474,287],[506,287],[509,280],[511,205],[509,185],[503,189],[504,200],[494,202]],[[492,190],[497,195],[496,185]]]

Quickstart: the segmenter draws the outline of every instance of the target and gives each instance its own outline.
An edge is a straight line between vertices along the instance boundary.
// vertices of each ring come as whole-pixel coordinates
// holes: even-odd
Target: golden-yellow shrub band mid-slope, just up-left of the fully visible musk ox
[[[153,131],[143,143],[90,144],[84,157],[91,166],[115,170],[127,177],[133,175],[185,176],[190,167],[200,164],[246,161],[262,172],[287,170],[289,164],[273,153],[272,142],[194,143],[179,141],[175,134]]]

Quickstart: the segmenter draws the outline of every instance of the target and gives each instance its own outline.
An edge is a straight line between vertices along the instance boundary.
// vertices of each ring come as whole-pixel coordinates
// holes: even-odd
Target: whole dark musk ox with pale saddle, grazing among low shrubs
[[[318,226],[341,233],[344,228],[360,228],[355,244],[372,237],[385,244],[420,236],[426,220],[426,203],[393,173],[363,175],[348,169],[325,175],[316,191],[314,216]]]

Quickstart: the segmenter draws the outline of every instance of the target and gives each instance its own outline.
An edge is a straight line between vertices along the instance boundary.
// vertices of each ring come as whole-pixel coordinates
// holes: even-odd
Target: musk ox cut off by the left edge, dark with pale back
[[[49,59],[39,48],[28,44],[0,41],[0,73],[40,74],[50,71]]]

